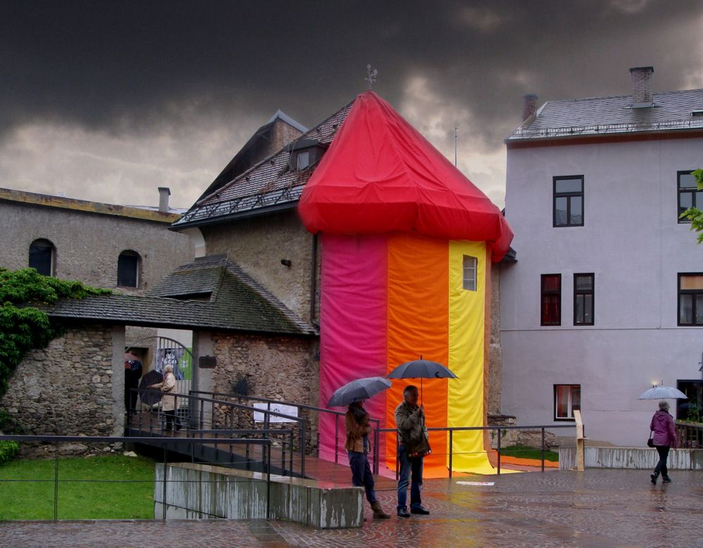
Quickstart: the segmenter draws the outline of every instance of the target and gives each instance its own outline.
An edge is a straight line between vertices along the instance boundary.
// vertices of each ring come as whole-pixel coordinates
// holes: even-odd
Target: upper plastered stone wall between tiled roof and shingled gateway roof
[[[201,230],[208,255],[227,255],[300,318],[310,321],[311,278],[317,269],[311,264],[315,238],[300,223],[296,211]],[[317,257],[319,266],[319,253]],[[281,260],[289,260],[291,266]]]

